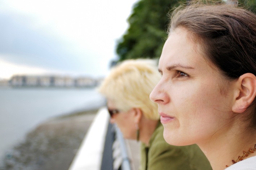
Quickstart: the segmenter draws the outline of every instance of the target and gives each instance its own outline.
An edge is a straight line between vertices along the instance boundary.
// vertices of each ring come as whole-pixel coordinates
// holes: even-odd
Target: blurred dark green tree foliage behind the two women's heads
[[[167,39],[168,12],[186,0],[140,0],[128,18],[129,28],[119,40],[119,61],[135,58],[158,58]],[[256,12],[256,0],[239,0]]]

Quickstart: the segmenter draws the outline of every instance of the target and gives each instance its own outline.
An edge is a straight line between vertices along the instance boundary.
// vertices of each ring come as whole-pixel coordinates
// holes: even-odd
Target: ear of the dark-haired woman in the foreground
[[[235,84],[237,94],[232,111],[235,113],[243,113],[256,96],[256,76],[252,73],[245,73],[238,78]]]

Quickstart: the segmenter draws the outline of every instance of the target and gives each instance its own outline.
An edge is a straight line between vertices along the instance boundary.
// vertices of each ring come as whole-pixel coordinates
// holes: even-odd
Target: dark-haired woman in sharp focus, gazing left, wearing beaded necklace
[[[164,139],[198,144],[213,170],[255,170],[256,15],[232,3],[177,8],[158,68],[150,99]]]

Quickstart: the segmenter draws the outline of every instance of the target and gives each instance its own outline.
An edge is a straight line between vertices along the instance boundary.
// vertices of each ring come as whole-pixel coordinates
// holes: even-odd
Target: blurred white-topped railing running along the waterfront
[[[109,118],[107,108],[104,107],[98,111],[69,170],[103,170],[111,168],[113,170],[119,168],[121,170],[131,170],[131,159],[127,153],[127,146],[123,135],[116,126],[109,125]],[[106,149],[104,149],[106,147],[106,135],[111,135],[111,133],[114,139],[107,141],[107,143],[111,141],[109,143],[111,145],[111,153],[104,153],[105,155],[107,154],[104,158],[103,152],[106,152]],[[106,161],[111,163],[111,167],[102,165],[102,162]]]

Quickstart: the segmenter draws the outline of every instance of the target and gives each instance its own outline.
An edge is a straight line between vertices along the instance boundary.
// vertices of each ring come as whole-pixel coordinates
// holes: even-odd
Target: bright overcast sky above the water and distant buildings
[[[101,77],[138,0],[0,0],[0,78]]]

